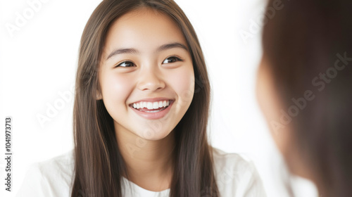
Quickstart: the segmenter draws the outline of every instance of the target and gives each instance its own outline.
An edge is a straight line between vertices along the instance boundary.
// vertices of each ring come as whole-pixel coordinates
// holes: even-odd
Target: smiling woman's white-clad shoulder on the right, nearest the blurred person
[[[266,196],[253,162],[218,148],[213,148],[213,161],[220,196]]]

